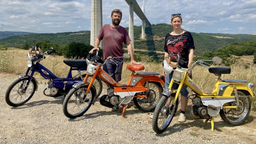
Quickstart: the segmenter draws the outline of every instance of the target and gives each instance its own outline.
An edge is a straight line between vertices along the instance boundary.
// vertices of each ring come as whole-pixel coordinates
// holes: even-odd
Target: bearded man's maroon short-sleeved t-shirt
[[[119,28],[111,27],[110,24],[105,24],[98,35],[98,39],[103,39],[103,60],[107,57],[123,57],[123,43],[128,44],[131,39],[127,30],[120,26]]]

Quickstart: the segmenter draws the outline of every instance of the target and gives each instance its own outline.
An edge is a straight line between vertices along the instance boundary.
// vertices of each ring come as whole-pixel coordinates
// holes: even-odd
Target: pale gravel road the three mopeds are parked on
[[[167,131],[156,134],[150,115],[134,105],[125,116],[118,111],[95,105],[82,116],[69,119],[62,112],[62,98],[44,96],[47,85],[40,82],[38,91],[24,105],[11,107],[5,102],[7,87],[17,76],[0,74],[0,143],[256,143],[255,112],[251,112],[244,125],[232,127],[215,118],[214,131],[208,122],[193,120],[186,110],[187,121],[174,117]],[[180,108],[178,114],[180,113]],[[254,122],[253,122],[254,121]]]

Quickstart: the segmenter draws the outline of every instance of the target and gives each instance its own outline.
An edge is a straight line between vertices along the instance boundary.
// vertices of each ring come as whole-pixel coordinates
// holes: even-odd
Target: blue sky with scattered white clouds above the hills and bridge
[[[137,0],[142,8],[143,0]],[[256,0],[144,0],[151,24],[170,24],[181,13],[182,29],[195,33],[256,34]],[[129,27],[125,0],[102,0],[103,24],[111,11],[123,12],[120,25]],[[134,13],[134,25],[142,21]],[[62,33],[90,30],[91,0],[0,0],[0,31]]]

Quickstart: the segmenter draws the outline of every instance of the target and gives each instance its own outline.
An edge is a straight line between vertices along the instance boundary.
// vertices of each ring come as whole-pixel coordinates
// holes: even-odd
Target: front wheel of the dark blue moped
[[[29,78],[17,79],[12,82],[12,84],[7,88],[5,93],[5,102],[13,107],[18,107],[28,102],[36,91],[36,81],[32,79],[28,84],[26,91],[24,87],[28,82]]]

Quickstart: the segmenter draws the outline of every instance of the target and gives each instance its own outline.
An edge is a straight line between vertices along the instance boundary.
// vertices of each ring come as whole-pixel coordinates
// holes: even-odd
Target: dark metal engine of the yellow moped
[[[192,99],[193,105],[191,106],[190,114],[194,119],[205,119],[208,110],[207,107],[205,107],[201,101],[200,97],[194,97]]]

